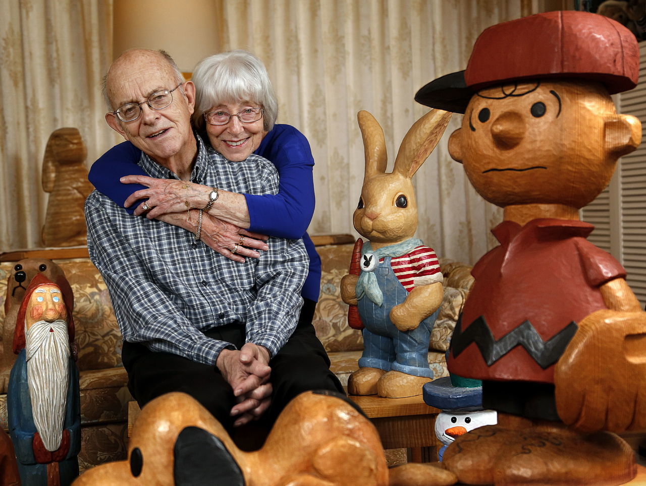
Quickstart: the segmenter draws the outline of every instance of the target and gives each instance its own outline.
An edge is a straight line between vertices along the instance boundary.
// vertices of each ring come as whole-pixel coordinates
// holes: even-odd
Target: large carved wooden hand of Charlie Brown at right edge
[[[582,431],[646,427],[646,312],[598,310],[554,371],[561,420]]]

